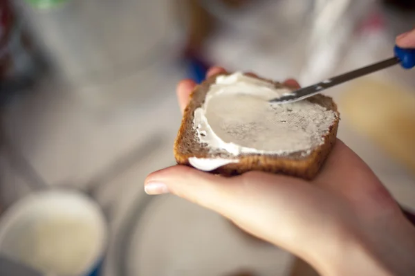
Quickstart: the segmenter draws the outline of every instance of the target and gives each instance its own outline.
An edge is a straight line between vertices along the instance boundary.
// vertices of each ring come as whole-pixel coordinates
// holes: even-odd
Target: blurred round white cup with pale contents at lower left
[[[75,191],[30,194],[0,219],[0,255],[44,275],[91,275],[101,264],[107,237],[98,204]]]

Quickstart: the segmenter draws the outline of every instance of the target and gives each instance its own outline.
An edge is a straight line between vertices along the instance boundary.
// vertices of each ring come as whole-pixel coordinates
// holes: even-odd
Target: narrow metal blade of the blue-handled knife
[[[398,57],[392,57],[392,58],[383,60],[382,62],[378,62],[376,64],[372,64],[372,65],[360,68],[358,70],[351,71],[349,73],[344,73],[342,75],[338,75],[337,77],[332,77],[328,80],[324,80],[322,82],[304,87],[302,89],[298,89],[297,91],[293,91],[292,93],[286,93],[282,95],[282,97],[280,98],[275,98],[273,100],[270,100],[270,102],[273,104],[288,104],[291,102],[297,102],[299,100],[304,100],[318,93],[322,93],[322,91],[324,91],[325,89],[329,89],[333,86],[343,84],[344,82],[349,82],[349,80],[354,80],[357,77],[362,77],[364,75],[368,75],[370,73],[380,71],[382,69],[388,68],[390,66],[394,66],[396,64],[400,64],[400,59]]]

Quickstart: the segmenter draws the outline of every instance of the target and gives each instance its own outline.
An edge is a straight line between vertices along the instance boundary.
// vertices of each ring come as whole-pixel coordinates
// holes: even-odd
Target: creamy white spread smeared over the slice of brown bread
[[[336,113],[307,100],[268,102],[290,92],[243,73],[216,77],[205,102],[194,111],[194,128],[199,141],[212,153],[221,149],[236,157],[215,158],[221,164],[218,167],[234,163],[240,154],[284,156],[300,152],[307,156],[324,143]],[[199,169],[203,167],[199,161],[192,163]]]

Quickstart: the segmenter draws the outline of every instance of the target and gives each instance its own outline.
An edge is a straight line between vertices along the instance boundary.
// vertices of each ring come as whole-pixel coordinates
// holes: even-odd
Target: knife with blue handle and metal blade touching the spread
[[[400,66],[402,66],[405,69],[412,69],[415,67],[415,48],[408,49],[408,48],[400,48],[398,46],[395,46],[394,52],[395,52],[394,57],[383,60],[382,62],[371,64],[369,66],[360,68],[355,71],[351,71],[349,73],[344,73],[336,77],[331,77],[328,80],[324,80],[323,82],[313,84],[311,86],[307,86],[302,89],[298,89],[296,91],[293,91],[292,93],[286,93],[282,95],[282,97],[280,98],[270,100],[270,103],[288,104],[291,102],[297,102],[299,100],[304,100],[313,95],[322,93],[322,91],[324,91],[325,89],[329,89],[333,86],[337,86],[344,82],[349,82],[349,80],[354,80],[364,75],[369,75],[371,73],[380,71],[390,66],[394,66],[396,64],[400,64]]]

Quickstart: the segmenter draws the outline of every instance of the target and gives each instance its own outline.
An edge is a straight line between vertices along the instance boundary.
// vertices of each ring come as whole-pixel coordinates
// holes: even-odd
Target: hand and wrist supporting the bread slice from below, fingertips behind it
[[[212,68],[208,77],[221,73]],[[298,86],[293,80],[284,84]],[[194,86],[191,80],[178,84],[182,111]],[[256,171],[224,177],[176,165],[150,174],[145,190],[219,212],[308,261],[321,275],[415,271],[415,229],[371,169],[340,140],[312,181]]]

